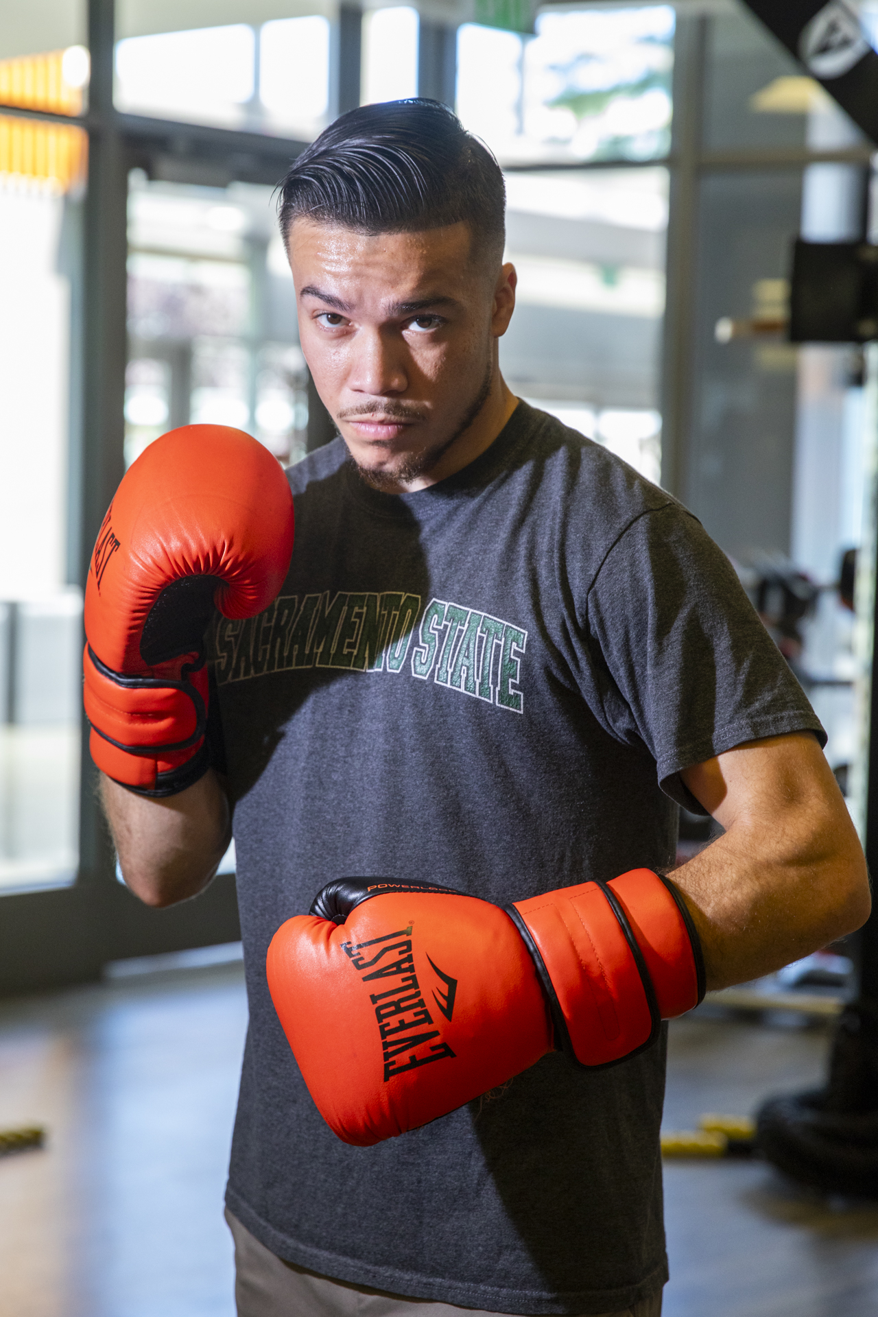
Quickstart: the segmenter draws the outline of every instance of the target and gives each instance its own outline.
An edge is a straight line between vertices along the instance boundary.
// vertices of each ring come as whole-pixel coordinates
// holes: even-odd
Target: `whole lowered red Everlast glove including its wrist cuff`
[[[649,869],[508,910],[429,884],[330,882],[269,947],[312,1098],[367,1147],[446,1115],[553,1047],[607,1065],[704,996],[682,898]]]

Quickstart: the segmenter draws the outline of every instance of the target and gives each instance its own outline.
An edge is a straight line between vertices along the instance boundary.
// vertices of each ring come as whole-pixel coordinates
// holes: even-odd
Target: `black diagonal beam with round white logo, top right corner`
[[[804,70],[878,144],[878,54],[844,0],[745,0]]]

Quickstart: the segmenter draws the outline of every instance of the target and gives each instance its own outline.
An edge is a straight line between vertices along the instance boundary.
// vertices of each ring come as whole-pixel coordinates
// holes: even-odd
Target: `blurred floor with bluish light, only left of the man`
[[[241,967],[0,1004],[1,1317],[232,1317]]]

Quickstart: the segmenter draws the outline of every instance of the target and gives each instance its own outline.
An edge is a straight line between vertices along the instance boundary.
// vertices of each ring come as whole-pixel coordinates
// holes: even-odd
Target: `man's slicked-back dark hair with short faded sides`
[[[280,184],[284,245],[297,219],[358,233],[465,223],[471,254],[503,258],[505,187],[491,151],[437,100],[361,105],[307,146]]]

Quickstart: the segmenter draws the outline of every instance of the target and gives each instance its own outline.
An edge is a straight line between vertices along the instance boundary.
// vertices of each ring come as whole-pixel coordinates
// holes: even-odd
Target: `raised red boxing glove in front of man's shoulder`
[[[145,795],[208,768],[204,631],[213,608],[251,618],[292,553],[292,494],[271,453],[228,425],[184,425],[125,474],[86,583],[91,756]]]

